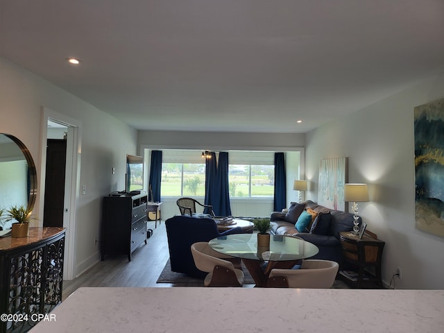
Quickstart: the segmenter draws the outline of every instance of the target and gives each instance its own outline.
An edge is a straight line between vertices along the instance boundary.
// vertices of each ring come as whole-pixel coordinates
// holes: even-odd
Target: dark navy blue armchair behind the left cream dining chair
[[[191,255],[191,244],[210,241],[227,234],[241,234],[240,227],[219,233],[213,219],[199,219],[190,216],[174,216],[165,221],[168,237],[171,271],[185,273],[195,278],[205,278],[207,273],[200,271]]]

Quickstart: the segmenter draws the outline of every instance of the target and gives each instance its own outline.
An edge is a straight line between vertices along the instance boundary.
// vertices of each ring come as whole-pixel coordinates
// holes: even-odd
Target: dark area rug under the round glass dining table
[[[242,264],[242,271],[244,271],[244,284],[254,284],[253,278],[251,278],[250,273],[248,272],[246,266]],[[203,287],[203,279],[191,278],[183,273],[176,273],[171,271],[171,265],[169,263],[169,259],[167,264],[165,264],[162,273],[160,273],[159,278],[157,278],[157,283],[171,283],[180,287]],[[332,288],[335,289],[348,289],[348,284],[343,282],[342,280],[335,280]]]

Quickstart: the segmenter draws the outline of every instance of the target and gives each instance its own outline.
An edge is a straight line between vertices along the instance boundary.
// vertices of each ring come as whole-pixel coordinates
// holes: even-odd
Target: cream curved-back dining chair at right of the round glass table
[[[330,260],[307,259],[298,269],[273,268],[266,287],[272,288],[330,288],[339,264]]]

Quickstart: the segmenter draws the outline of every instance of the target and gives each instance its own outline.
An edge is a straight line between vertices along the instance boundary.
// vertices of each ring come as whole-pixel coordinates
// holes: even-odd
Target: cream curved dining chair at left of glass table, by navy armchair
[[[210,248],[208,242],[192,244],[191,253],[196,267],[208,273],[203,282],[205,287],[242,287],[244,284],[244,272],[234,268],[232,262],[214,257],[213,255],[223,255]]]

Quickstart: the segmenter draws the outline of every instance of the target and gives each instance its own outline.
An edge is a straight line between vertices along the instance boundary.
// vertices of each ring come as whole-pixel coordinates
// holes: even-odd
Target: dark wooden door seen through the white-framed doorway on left
[[[44,227],[62,227],[65,209],[67,140],[48,139],[44,187]]]

